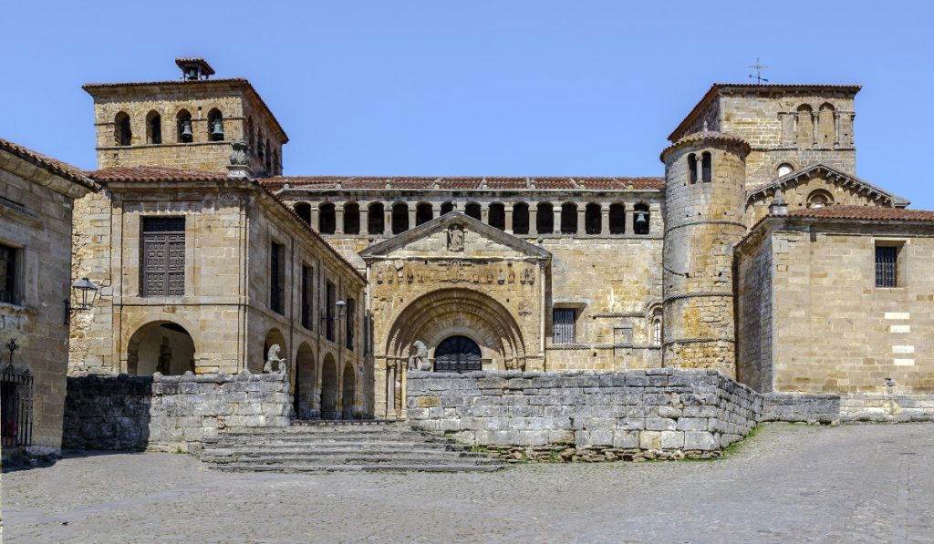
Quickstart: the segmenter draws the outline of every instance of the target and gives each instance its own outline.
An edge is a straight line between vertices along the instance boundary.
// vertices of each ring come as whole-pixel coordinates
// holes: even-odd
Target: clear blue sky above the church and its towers
[[[660,175],[710,84],[858,83],[857,174],[934,209],[931,2],[7,2],[0,136],[94,167],[85,82],[248,77],[286,174]]]

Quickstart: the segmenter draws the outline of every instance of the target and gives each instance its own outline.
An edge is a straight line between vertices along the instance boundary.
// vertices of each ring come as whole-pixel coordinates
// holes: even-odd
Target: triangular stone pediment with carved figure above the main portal
[[[549,260],[551,254],[461,212],[449,212],[360,252],[365,261],[389,258]]]

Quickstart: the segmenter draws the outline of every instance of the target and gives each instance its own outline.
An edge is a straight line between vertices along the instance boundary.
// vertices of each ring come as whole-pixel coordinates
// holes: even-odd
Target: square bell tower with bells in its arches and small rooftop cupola
[[[176,65],[177,79],[82,87],[94,100],[97,167],[281,174],[289,137],[249,81],[212,79],[204,59]]]

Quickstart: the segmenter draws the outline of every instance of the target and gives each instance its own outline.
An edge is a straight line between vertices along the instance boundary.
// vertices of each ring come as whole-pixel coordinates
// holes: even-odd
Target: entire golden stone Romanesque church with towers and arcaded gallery
[[[261,371],[277,344],[325,418],[404,416],[413,362],[934,394],[934,212],[856,175],[858,86],[715,84],[663,177],[283,175],[252,85],[177,64],[84,86],[103,190],[74,273],[101,289],[73,374]]]

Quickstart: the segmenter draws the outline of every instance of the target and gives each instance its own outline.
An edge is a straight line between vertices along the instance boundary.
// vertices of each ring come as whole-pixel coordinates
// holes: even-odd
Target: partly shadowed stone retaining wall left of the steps
[[[68,378],[63,448],[197,452],[219,429],[284,427],[281,374]]]

